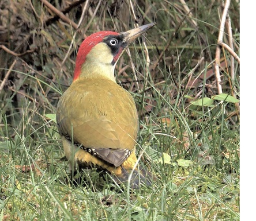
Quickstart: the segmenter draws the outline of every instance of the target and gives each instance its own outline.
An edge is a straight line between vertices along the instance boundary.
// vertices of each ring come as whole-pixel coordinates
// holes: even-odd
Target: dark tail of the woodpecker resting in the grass
[[[118,184],[129,184],[131,189],[139,189],[141,185],[150,186],[155,177],[144,168],[126,169],[121,165],[121,174],[111,174],[112,179]]]

